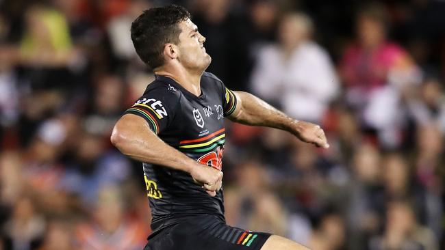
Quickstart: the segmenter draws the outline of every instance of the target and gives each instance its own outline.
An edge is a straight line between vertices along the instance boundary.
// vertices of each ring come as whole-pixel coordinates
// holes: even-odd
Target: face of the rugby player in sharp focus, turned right
[[[191,70],[205,70],[212,58],[205,52],[205,37],[198,32],[198,27],[190,19],[179,23],[179,61]]]

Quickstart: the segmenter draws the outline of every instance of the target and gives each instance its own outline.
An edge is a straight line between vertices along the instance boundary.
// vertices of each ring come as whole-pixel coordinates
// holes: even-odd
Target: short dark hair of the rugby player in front
[[[190,18],[188,10],[174,4],[144,10],[131,23],[131,40],[140,59],[152,69],[162,66],[164,45],[179,44],[179,23]]]

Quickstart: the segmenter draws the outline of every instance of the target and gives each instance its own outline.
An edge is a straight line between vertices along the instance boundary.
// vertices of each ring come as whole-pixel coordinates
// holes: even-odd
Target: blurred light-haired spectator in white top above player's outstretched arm
[[[320,122],[338,94],[327,52],[312,42],[314,25],[303,13],[285,14],[278,44],[260,49],[251,89],[296,119]]]

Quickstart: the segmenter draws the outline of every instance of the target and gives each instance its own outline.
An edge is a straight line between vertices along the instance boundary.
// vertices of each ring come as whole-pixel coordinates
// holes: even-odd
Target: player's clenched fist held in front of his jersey
[[[223,172],[213,167],[197,163],[192,167],[190,175],[211,196],[215,196],[223,185]]]

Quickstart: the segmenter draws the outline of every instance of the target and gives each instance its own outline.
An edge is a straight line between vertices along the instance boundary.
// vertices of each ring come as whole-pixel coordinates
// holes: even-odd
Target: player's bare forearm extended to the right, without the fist
[[[268,126],[279,128],[295,134],[298,130],[298,121],[285,113],[275,109],[264,100],[246,92],[236,92],[242,107],[238,113],[229,117],[233,122],[251,126]]]

